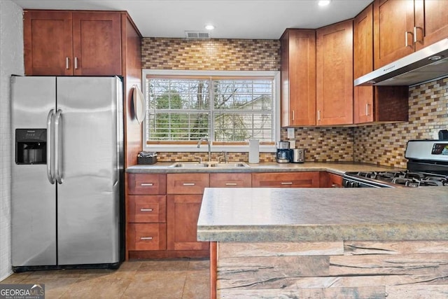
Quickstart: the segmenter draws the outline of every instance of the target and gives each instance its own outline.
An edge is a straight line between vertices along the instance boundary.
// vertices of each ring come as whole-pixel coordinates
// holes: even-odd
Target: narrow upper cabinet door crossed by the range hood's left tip
[[[373,6],[367,6],[353,21],[353,76],[359,78],[373,71]],[[372,86],[353,89],[353,123],[373,121]]]

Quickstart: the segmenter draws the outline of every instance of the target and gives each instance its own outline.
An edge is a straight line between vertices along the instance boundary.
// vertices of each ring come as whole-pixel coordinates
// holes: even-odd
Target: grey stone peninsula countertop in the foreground
[[[206,188],[197,239],[448,239],[448,188]]]

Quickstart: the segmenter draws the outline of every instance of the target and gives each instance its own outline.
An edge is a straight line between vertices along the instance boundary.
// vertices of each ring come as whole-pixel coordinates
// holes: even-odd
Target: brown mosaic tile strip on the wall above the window
[[[280,41],[272,39],[161,39],[142,43],[144,69],[279,71]]]

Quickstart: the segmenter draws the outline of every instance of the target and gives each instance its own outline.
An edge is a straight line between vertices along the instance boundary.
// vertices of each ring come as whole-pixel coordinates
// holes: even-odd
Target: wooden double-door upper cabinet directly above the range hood
[[[448,36],[448,1],[374,0],[374,68]]]

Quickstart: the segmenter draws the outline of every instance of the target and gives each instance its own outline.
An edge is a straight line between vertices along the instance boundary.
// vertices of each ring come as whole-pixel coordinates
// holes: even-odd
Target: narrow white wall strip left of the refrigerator
[[[0,281],[11,273],[10,88],[11,74],[24,74],[22,8],[0,1]]]

